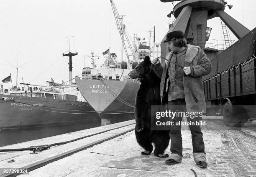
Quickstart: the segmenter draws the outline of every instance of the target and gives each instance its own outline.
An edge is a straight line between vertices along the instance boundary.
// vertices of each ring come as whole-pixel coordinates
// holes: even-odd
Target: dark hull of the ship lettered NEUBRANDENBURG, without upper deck
[[[86,124],[101,126],[101,118],[85,102],[10,96],[0,100],[0,130]],[[12,98],[8,99],[8,98]],[[88,126],[87,126],[88,128]]]

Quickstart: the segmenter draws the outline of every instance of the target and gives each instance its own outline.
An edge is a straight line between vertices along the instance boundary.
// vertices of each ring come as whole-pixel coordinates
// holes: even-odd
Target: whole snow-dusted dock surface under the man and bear
[[[53,161],[29,172],[22,177],[256,177],[256,125],[246,123],[242,130],[226,127],[222,117],[203,117],[206,126],[202,126],[207,157],[207,169],[200,169],[193,160],[191,133],[182,128],[182,163],[168,166],[165,160],[154,155],[143,156],[136,142],[134,120],[106,125],[78,132],[67,133],[41,140],[10,145],[6,148],[29,147],[53,142],[71,140],[102,130],[111,130],[77,142],[51,147],[32,155],[31,151],[1,152],[1,168],[24,168],[40,164],[53,157],[84,147],[121,132],[127,132],[111,140],[94,145],[68,157]],[[131,125],[132,124],[132,125]],[[125,126],[128,125],[128,126]],[[122,127],[125,126],[125,127]],[[170,147],[166,149],[170,154]],[[15,162],[7,163],[8,160]]]

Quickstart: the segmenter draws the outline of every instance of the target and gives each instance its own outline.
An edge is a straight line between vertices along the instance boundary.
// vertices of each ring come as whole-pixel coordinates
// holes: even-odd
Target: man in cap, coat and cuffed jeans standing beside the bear
[[[173,31],[166,35],[168,47],[172,50],[166,58],[164,68],[160,61],[155,59],[153,69],[161,78],[161,101],[162,105],[168,102],[169,110],[175,112],[204,112],[205,95],[202,85],[202,76],[211,72],[212,66],[205,52],[198,46],[187,45],[182,31]],[[182,66],[184,67],[182,69]],[[193,118],[193,119],[192,119]],[[201,117],[187,117],[187,122],[198,121]],[[174,117],[173,126],[170,126],[171,158],[166,160],[168,165],[174,165],[182,161],[182,135],[181,126],[175,122],[182,121],[181,117]],[[199,125],[189,126],[192,134],[193,156],[197,165],[206,168],[205,145],[202,131]]]

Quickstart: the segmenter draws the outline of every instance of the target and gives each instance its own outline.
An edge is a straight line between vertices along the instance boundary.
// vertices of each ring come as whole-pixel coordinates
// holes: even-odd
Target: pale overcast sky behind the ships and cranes
[[[128,34],[136,33],[148,40],[149,30],[156,25],[156,42],[161,42],[168,31],[172,3],[160,0],[114,0],[120,15],[126,15],[123,22]],[[245,25],[249,30],[256,27],[256,1],[227,0],[233,5],[225,12]],[[78,52],[73,57],[73,77],[82,73],[84,56],[94,52],[100,56],[110,47],[118,57],[121,53],[120,35],[115,24],[110,0],[4,0],[0,6],[0,80],[10,73],[13,85],[16,82],[16,68],[8,65],[25,66],[18,70],[18,82],[46,84],[53,77],[55,82],[69,80],[68,57],[62,53]],[[220,19],[208,21],[212,27],[210,38],[223,40]],[[231,35],[236,40],[234,35]],[[125,53],[125,52],[124,52]],[[125,58],[125,57],[124,57]],[[86,57],[86,67],[90,67]],[[7,62],[7,61],[8,62]],[[28,63],[27,63],[28,62]],[[26,64],[27,63],[27,64]],[[25,64],[25,65],[24,65]],[[3,84],[1,82],[0,84]],[[10,87],[10,83],[4,87]]]

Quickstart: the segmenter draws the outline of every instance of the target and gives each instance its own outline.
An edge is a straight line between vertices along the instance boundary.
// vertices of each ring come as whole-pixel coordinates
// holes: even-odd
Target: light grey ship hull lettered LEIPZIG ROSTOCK
[[[76,79],[77,87],[85,100],[102,117],[102,124],[112,124],[134,119],[134,103],[139,89],[131,79],[87,80]]]

